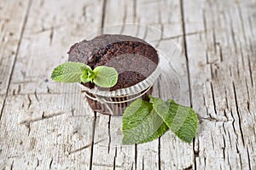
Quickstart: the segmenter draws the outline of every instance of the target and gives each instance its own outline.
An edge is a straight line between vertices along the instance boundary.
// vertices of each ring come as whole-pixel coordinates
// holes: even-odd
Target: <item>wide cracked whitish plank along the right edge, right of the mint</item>
[[[192,104],[201,119],[194,168],[254,169],[255,3],[183,1],[183,14],[186,33],[199,32],[186,36]]]

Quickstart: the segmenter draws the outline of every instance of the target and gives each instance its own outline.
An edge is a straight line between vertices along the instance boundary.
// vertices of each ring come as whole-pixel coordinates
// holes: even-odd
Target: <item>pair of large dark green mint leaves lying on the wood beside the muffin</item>
[[[168,128],[179,139],[191,143],[195,138],[198,119],[193,109],[149,96],[152,103],[137,99],[123,115],[123,144],[140,144],[157,139]]]

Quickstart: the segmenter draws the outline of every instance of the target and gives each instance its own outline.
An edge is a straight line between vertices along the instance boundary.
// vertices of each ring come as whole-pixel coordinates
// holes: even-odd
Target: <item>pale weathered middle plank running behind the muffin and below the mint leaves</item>
[[[147,30],[144,30],[143,26],[131,29],[131,26],[129,25],[117,26],[115,27],[116,30],[113,30],[113,28],[105,29],[103,32],[106,33],[107,31],[109,33],[112,31],[111,33],[124,33],[131,36],[137,35],[139,37],[146,36],[146,39],[152,40],[154,45],[158,44],[158,48],[161,50],[165,50],[166,46],[170,45],[170,43],[166,43],[169,42],[170,39],[175,40],[178,43],[178,47],[182,47],[183,32],[179,5],[179,1],[155,1],[154,3],[148,3],[147,1],[133,1],[127,4],[125,1],[117,3],[114,0],[109,0],[107,1],[105,9],[104,26],[138,21],[139,24],[147,24],[160,31],[165,31],[166,35],[162,35],[160,31],[157,31],[156,34],[155,32],[147,32]],[[148,10],[153,8],[154,10]],[[170,8],[172,10],[170,10]],[[170,11],[172,12],[170,13]],[[115,20],[113,20],[113,18]],[[168,53],[170,51],[163,52]],[[178,77],[180,78],[180,84],[178,85],[181,87],[178,87],[177,89],[180,89],[181,91],[177,92],[176,96],[173,96],[172,93],[166,94],[165,92],[161,92],[160,96],[167,99],[172,95],[178,102],[183,103],[184,105],[189,105],[189,86],[185,57],[179,54],[179,51],[172,51],[171,53],[177,53],[172,56],[172,60],[177,60],[172,63],[172,66],[175,67]],[[180,59],[176,59],[175,57],[177,56],[179,56]],[[155,92],[155,95],[159,96],[159,93]],[[96,120],[101,126],[96,126],[95,141],[106,140],[104,140],[104,144],[102,143],[104,146],[101,144],[94,145],[94,157],[92,160],[93,168],[101,168],[101,166],[112,168],[114,167],[114,163],[116,168],[125,169],[130,169],[131,167],[137,169],[157,169],[160,167],[186,168],[193,164],[194,153],[192,145],[184,144],[171,132],[166,133],[163,139],[154,140],[154,142],[149,144],[137,144],[136,146],[131,145],[123,147],[119,146],[120,141],[118,140],[116,140],[118,145],[113,144],[113,139],[117,136],[113,135],[115,133],[111,133],[119,131],[118,128],[121,127],[121,119],[99,115]],[[170,141],[172,141],[172,144],[170,144]],[[174,150],[174,148],[176,148],[176,150]],[[119,154],[120,150],[122,150],[121,155]],[[178,159],[179,153],[186,153],[184,154],[183,159]],[[105,157],[99,156],[101,154],[104,154]],[[125,157],[123,154],[125,154]],[[172,160],[170,160],[170,156],[173,158]],[[120,163],[120,161],[124,162],[121,164],[122,167],[119,167],[117,164],[118,162]]]

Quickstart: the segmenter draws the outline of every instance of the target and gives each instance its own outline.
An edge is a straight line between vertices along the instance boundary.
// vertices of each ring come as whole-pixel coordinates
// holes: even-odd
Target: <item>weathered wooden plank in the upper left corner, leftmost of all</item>
[[[28,8],[28,1],[5,1],[0,4],[0,120]]]

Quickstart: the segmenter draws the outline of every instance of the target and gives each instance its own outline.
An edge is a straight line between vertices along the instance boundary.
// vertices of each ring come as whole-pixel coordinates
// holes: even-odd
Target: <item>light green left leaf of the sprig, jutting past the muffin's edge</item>
[[[51,79],[55,82],[81,82],[84,68],[87,65],[77,62],[67,62],[58,65],[51,73]]]

